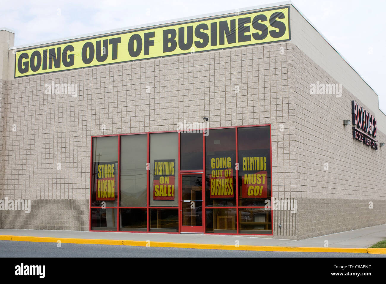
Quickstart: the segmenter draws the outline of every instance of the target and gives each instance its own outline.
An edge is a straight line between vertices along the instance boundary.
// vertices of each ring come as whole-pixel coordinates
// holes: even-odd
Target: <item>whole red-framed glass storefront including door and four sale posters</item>
[[[90,230],[272,235],[269,125],[91,142]]]

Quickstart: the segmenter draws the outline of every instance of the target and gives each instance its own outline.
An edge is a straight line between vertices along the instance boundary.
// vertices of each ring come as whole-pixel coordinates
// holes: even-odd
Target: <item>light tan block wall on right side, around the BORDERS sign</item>
[[[295,45],[293,51],[296,99],[302,109],[297,112],[296,197],[386,200],[386,149],[376,151],[353,139],[352,125],[343,125],[344,119],[352,120],[351,100],[372,109],[344,85],[342,97],[310,94],[312,83],[339,82]],[[386,136],[378,129],[376,139],[382,142]]]

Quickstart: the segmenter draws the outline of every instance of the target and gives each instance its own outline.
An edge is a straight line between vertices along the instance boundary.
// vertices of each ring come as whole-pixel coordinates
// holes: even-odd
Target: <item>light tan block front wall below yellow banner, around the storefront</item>
[[[7,125],[17,131],[8,127],[5,137],[4,196],[88,201],[90,136],[177,130],[184,119],[206,116],[210,127],[272,124],[273,196],[291,197],[295,77],[287,48],[269,44],[9,80]],[[77,97],[44,94],[52,81],[76,84]]]

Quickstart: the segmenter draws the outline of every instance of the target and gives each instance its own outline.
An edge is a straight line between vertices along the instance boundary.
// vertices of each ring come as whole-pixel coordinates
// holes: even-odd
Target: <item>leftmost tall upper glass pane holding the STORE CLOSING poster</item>
[[[91,206],[117,206],[118,136],[93,138]]]

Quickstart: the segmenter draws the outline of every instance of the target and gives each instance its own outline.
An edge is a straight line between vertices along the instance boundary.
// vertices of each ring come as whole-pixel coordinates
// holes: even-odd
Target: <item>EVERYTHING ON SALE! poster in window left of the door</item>
[[[175,160],[154,160],[153,200],[174,200]]]

